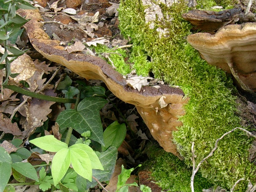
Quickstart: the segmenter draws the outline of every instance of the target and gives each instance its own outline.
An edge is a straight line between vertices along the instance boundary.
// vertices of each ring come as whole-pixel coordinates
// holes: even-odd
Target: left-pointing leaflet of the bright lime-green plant
[[[54,138],[53,135],[46,135],[43,137],[35,138],[29,142],[45,151],[50,152],[58,152],[63,148],[68,148],[66,143]]]

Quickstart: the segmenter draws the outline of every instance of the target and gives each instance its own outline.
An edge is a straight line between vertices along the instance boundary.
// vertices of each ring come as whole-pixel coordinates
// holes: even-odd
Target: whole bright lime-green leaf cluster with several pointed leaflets
[[[75,172],[91,181],[92,169],[103,170],[93,149],[85,144],[75,144],[68,148],[67,144],[54,138],[53,135],[36,138],[30,143],[50,152],[57,152],[52,160],[52,177],[56,186],[66,174],[72,163]]]

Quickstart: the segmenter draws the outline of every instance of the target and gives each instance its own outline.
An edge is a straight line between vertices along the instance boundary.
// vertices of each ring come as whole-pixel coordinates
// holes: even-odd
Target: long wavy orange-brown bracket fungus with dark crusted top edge
[[[99,57],[89,54],[68,53],[60,42],[51,40],[42,29],[41,15],[37,10],[19,10],[19,14],[30,19],[25,28],[34,48],[50,61],[62,64],[86,79],[102,80],[116,97],[136,106],[153,137],[165,151],[179,156],[172,142],[172,131],[182,125],[177,116],[185,114],[182,105],[188,101],[179,88],[160,85],[143,87],[140,91],[127,86],[121,74]],[[159,100],[168,104],[161,109]]]

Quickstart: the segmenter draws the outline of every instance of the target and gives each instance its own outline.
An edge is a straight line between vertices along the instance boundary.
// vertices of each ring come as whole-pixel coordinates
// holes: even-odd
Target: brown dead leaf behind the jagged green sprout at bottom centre
[[[118,175],[121,173],[122,165],[124,165],[124,167],[126,167],[126,163],[125,163],[124,159],[121,159],[121,158],[117,159],[114,173],[109,180],[109,184],[105,187],[109,192],[115,192],[117,189]],[[131,175],[131,177],[128,178],[126,183],[131,184],[134,182],[138,182],[138,179],[136,179],[136,178],[137,178],[137,176]],[[104,191],[104,192],[106,192],[106,191]],[[129,192],[141,192],[141,191],[140,191],[139,187],[131,186],[131,187],[129,187]]]

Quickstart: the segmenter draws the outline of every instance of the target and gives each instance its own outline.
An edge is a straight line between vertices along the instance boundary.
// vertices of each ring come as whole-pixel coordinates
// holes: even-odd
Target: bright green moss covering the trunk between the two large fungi
[[[192,142],[195,142],[197,164],[208,155],[216,139],[241,126],[236,115],[236,97],[232,95],[236,89],[224,71],[208,65],[187,43],[191,25],[181,17],[188,11],[187,2],[162,2],[122,0],[120,29],[125,37],[132,39],[134,46],[151,57],[155,78],[179,86],[190,98],[185,116],[179,119],[183,125],[173,132],[173,140],[185,163],[191,166]],[[143,67],[143,64],[139,66]],[[219,142],[218,149],[199,172],[228,189],[240,178],[255,183],[256,167],[248,161],[251,141],[241,131],[230,133]],[[246,181],[240,182],[235,190],[245,191],[246,185]]]

